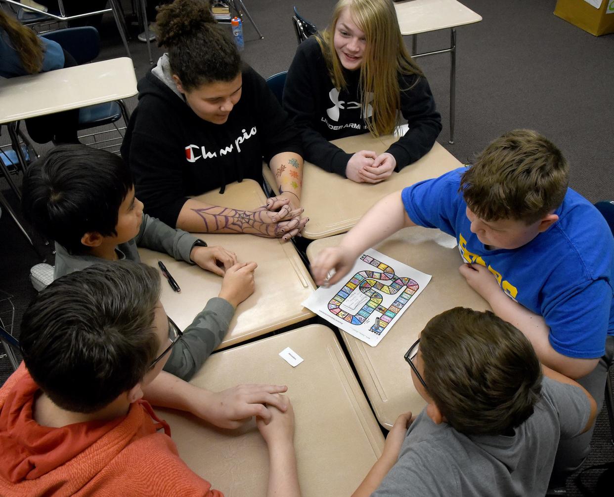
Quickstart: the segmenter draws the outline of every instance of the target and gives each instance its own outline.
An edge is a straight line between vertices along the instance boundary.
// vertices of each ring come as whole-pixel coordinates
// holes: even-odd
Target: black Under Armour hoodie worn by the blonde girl
[[[301,131],[303,157],[341,176],[352,154],[328,140],[368,132],[359,92],[360,70],[343,71],[347,88],[338,91],[320,45],[311,37],[298,46],[284,86],[284,108]],[[397,171],[426,154],[441,131],[441,116],[426,78],[400,74],[398,84],[402,89],[399,110],[409,131],[386,150],[397,160]],[[366,115],[371,112],[368,105]]]

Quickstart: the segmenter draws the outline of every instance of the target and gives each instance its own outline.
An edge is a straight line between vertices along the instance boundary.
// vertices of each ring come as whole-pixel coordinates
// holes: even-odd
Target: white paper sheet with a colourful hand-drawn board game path
[[[375,249],[368,249],[339,283],[319,287],[303,305],[375,347],[430,278]]]

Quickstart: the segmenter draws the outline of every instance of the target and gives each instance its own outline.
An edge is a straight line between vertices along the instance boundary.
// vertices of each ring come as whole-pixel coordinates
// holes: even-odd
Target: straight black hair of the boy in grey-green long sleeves
[[[26,171],[21,207],[45,237],[80,254],[87,252],[81,243],[85,233],[117,234],[119,208],[133,184],[121,157],[85,145],[60,145]]]

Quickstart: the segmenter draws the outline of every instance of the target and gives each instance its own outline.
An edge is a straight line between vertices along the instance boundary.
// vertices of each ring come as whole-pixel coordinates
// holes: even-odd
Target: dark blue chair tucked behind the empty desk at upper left
[[[79,65],[93,61],[100,53],[100,37],[96,28],[91,26],[58,29],[57,31],[50,31],[42,34],[41,37],[57,42],[64,50],[72,55]],[[118,153],[123,140],[122,130],[125,129],[125,126],[119,128],[115,126],[114,123],[120,118],[123,118],[127,126],[130,120],[130,114],[122,100],[82,107],[79,109],[79,130],[113,124],[119,137],[99,141],[98,137],[100,135],[109,132],[103,131],[82,135],[79,138],[91,138],[93,142],[87,143],[87,145],[99,145],[98,148],[111,148],[114,149],[111,150],[112,152]]]

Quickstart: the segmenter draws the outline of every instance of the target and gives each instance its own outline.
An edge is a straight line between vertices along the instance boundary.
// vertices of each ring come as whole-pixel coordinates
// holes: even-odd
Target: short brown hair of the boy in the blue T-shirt
[[[459,191],[484,221],[529,225],[561,205],[568,183],[569,166],[556,145],[530,129],[515,129],[478,154]]]

